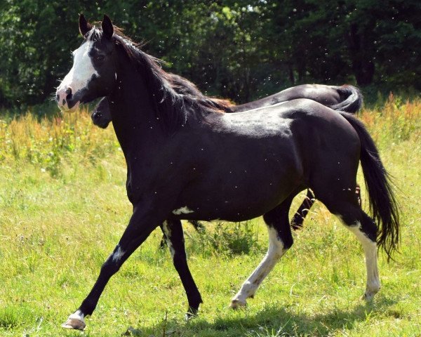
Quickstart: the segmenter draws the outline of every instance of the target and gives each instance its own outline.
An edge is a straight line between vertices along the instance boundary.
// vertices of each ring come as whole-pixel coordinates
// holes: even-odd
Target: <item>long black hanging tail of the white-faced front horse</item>
[[[361,166],[366,180],[370,212],[379,226],[377,244],[387,254],[387,260],[399,246],[399,207],[394,197],[392,182],[385,166],[380,160],[379,152],[373,138],[361,121],[352,114],[340,112],[351,124],[361,141]]]

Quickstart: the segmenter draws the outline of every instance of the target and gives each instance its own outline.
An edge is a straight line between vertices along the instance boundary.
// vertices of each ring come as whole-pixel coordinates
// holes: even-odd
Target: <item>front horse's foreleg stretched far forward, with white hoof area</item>
[[[84,318],[87,315],[92,315],[109,279],[119,271],[124,261],[147,239],[152,230],[159,223],[162,223],[164,218],[165,216],[159,215],[156,209],[150,205],[146,207],[135,206],[133,215],[126,230],[123,232],[119,244],[116,245],[112,254],[105,260],[97,281],[79,309],[69,316],[65,324],[62,324],[64,328],[79,330],[85,328]]]

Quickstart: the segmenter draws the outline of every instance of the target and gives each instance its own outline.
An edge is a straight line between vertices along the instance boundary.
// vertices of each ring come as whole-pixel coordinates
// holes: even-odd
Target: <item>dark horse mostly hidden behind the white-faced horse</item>
[[[326,105],[333,110],[349,112],[352,114],[359,111],[363,104],[363,95],[361,95],[359,89],[354,86],[302,84],[300,86],[287,88],[283,91],[280,91],[279,93],[269,95],[268,97],[262,98],[260,100],[255,100],[253,102],[242,105],[235,105],[229,102],[229,100],[221,100],[219,98],[212,98],[203,95],[203,93],[199,91],[199,88],[197,88],[195,84],[177,74],[168,73],[168,79],[170,85],[177,93],[182,95],[190,95],[193,98],[207,99],[210,103],[215,105],[215,107],[218,107],[225,112],[243,112],[286,102],[288,100],[295,100],[298,98],[308,98],[310,100],[315,100],[316,102]],[[111,113],[109,112],[109,103],[107,98],[102,98],[98,105],[96,105],[93,113],[91,114],[91,119],[93,124],[99,126],[100,128],[108,127],[109,123],[112,121],[112,117]],[[356,194],[359,199],[359,204],[361,205],[359,185],[356,186]],[[305,199],[302,201],[302,204],[300,204],[298,210],[295,212],[293,218],[291,219],[291,226],[294,230],[302,227],[302,223],[304,222],[309,209],[312,208],[314,201],[316,201],[314,194],[311,190],[307,190]],[[203,225],[201,225],[199,221],[190,220],[189,222],[192,223],[196,230],[203,228]],[[164,243],[165,234],[163,240],[161,241],[161,247],[164,246]]]

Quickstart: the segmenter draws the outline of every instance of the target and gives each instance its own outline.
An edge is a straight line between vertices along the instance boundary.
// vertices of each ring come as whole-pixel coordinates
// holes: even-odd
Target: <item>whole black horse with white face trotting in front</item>
[[[232,308],[246,305],[292,246],[288,210],[293,197],[308,187],[361,242],[367,267],[364,296],[377,293],[377,244],[388,257],[397,248],[399,214],[387,172],[360,121],[306,99],[225,114],[207,100],[176,93],[156,60],[107,16],[98,29],[81,15],[79,28],[84,41],[58,87],[58,105],[73,111],[81,103],[109,98],[128,166],[133,215],[65,327],[84,328],[84,317],[95,310],[110,277],[159,224],[187,293],[188,314],[195,315],[202,300],[187,266],[181,219],[263,216],[269,231],[267,255],[231,303]],[[354,192],[360,161],[378,228]]]

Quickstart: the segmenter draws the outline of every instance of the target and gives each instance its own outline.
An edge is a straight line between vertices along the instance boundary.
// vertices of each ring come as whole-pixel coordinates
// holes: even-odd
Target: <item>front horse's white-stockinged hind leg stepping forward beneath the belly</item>
[[[247,298],[253,298],[263,279],[274,268],[281,256],[293,245],[293,236],[288,220],[288,211],[295,194],[283,201],[263,216],[269,232],[269,249],[265,258],[255,271],[246,279],[236,296],[232,298],[231,308],[245,306]]]

